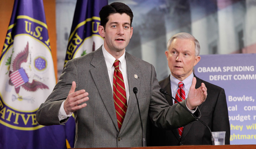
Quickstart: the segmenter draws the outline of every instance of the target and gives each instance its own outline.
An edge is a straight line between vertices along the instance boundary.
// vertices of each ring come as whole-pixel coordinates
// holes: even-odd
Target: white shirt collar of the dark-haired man
[[[113,66],[113,63],[115,62],[116,58],[113,57],[110,53],[108,53],[108,51],[104,47],[104,44],[102,45],[102,52],[103,52],[103,56],[106,61],[107,68],[108,68],[108,70],[110,70],[111,67]],[[125,68],[125,66],[124,66],[125,65],[125,52],[124,52],[124,54],[122,54],[121,57],[119,57],[118,60],[120,61],[119,69],[122,70],[122,68]],[[121,63],[121,65],[120,65],[120,63]]]

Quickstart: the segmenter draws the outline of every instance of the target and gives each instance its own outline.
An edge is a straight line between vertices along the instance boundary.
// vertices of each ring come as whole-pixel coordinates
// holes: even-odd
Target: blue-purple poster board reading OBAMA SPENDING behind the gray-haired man
[[[201,55],[194,73],[224,88],[230,120],[230,144],[255,144],[256,54]]]

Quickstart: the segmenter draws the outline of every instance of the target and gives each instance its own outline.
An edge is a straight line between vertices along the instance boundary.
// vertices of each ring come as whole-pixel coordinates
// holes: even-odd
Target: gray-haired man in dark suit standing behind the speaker
[[[171,74],[159,82],[161,88],[175,97],[179,88],[178,84],[181,82],[187,97],[193,77],[197,80],[195,88],[204,83],[207,87],[208,95],[207,100],[198,106],[201,111],[200,119],[209,126],[212,132],[226,131],[225,144],[230,144],[230,123],[224,89],[201,80],[193,74],[193,67],[201,58],[199,56],[200,45],[198,40],[191,34],[178,33],[170,38],[167,48],[168,51],[165,54]],[[167,95],[165,97],[169,105],[176,105],[171,97]],[[183,118],[186,119],[186,117]],[[181,135],[178,129],[164,130],[151,124],[149,124],[147,131],[148,146],[211,144],[209,129],[200,121],[184,126]]]

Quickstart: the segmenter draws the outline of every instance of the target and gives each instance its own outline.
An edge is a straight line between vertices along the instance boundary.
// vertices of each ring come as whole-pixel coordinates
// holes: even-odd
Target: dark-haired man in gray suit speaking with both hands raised
[[[74,113],[76,148],[141,146],[140,118],[132,93],[134,87],[138,89],[144,132],[148,115],[155,126],[165,129],[194,121],[195,118],[180,105],[168,105],[159,92],[154,67],[125,52],[133,33],[131,9],[123,3],[112,3],[104,6],[99,14],[99,34],[104,44],[95,52],[67,62],[53,92],[38,109],[38,123],[45,126],[64,124]],[[117,71],[123,76],[120,79],[125,91],[123,104],[127,107],[123,110],[123,121],[117,118],[120,113],[114,100],[117,94],[114,90],[120,86],[114,85],[117,78],[113,79],[116,60],[119,60]],[[200,116],[197,106],[205,101],[207,88],[202,83],[195,89],[195,83],[194,79],[188,99],[182,104],[190,110],[195,109],[195,114]]]

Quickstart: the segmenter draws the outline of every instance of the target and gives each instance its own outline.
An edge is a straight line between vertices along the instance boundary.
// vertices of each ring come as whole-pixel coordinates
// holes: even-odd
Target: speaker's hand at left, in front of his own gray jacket
[[[68,93],[67,99],[64,101],[64,110],[67,115],[87,106],[87,104],[83,102],[89,100],[89,97],[87,97],[89,94],[85,92],[84,89],[81,89],[76,92],[75,92],[75,89],[76,89],[76,82],[73,81],[70,92]]]

